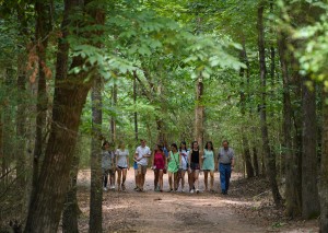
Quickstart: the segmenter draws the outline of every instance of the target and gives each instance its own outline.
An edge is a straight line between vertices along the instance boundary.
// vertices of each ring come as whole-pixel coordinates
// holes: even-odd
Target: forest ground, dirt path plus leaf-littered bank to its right
[[[79,173],[78,185],[82,210],[79,228],[80,232],[87,232],[90,171]],[[126,186],[126,191],[104,191],[104,232],[318,232],[317,220],[285,219],[283,209],[273,207],[269,184],[262,178],[245,179],[233,174],[229,195],[219,193],[218,173],[214,194],[203,191],[203,175],[200,175],[200,194],[155,193],[153,172],[149,170],[145,190],[137,193],[134,171],[130,170]],[[167,175],[164,175],[164,190],[168,190]]]

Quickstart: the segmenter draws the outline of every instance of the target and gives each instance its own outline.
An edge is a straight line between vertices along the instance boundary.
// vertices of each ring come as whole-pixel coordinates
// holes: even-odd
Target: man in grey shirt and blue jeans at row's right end
[[[234,150],[229,147],[227,140],[224,140],[222,142],[222,148],[219,149],[218,158],[219,158],[221,191],[223,195],[227,195],[231,172],[235,163]]]

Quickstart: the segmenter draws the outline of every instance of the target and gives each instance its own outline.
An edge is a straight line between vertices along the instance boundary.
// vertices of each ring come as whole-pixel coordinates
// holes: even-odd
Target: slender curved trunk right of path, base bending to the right
[[[269,132],[268,132],[268,125],[267,125],[267,103],[266,103],[266,88],[267,88],[267,80],[266,80],[266,50],[265,50],[265,31],[263,31],[263,11],[265,11],[265,1],[261,1],[258,7],[258,21],[257,21],[257,28],[258,28],[258,49],[259,49],[259,65],[260,65],[260,80],[261,80],[261,107],[260,107],[260,121],[261,121],[261,135],[263,140],[263,153],[266,155],[266,164],[267,164],[267,173],[268,178],[270,180],[270,186],[272,190],[272,196],[276,206],[281,205],[281,196],[279,193],[278,184],[277,184],[277,171],[276,171],[276,158],[274,154],[271,152],[270,143],[269,143]]]

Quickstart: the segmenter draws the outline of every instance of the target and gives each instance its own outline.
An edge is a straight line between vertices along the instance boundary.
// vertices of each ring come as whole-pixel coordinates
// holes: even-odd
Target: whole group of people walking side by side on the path
[[[189,193],[199,193],[199,173],[204,173],[204,191],[214,193],[214,171],[220,172],[221,193],[227,194],[230,177],[234,167],[234,150],[229,147],[229,141],[222,142],[222,148],[215,156],[213,143],[208,141],[203,150],[200,150],[197,141],[191,143],[191,149],[187,149],[185,141],[178,148],[172,143],[169,150],[162,144],[156,144],[153,153],[145,145],[145,140],[140,141],[140,145],[133,154],[133,168],[136,176],[136,191],[143,191],[147,168],[151,159],[151,168],[154,171],[154,190],[163,191],[163,175],[168,174],[169,191],[185,191],[185,175],[188,175]],[[117,189],[126,190],[125,182],[127,170],[129,170],[129,151],[125,144],[119,144],[114,150],[114,144],[105,141],[103,143],[103,180],[104,190],[107,187],[115,189],[115,176],[117,172]],[[109,185],[108,185],[109,175]],[[210,175],[210,188],[208,177]],[[108,186],[107,186],[108,185]]]

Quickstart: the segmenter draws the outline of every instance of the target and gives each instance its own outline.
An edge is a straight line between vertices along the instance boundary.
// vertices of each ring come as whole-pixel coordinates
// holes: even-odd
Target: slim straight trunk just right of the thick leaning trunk
[[[102,79],[96,77],[92,88],[92,142],[91,142],[91,195],[89,232],[101,233],[102,230]]]

